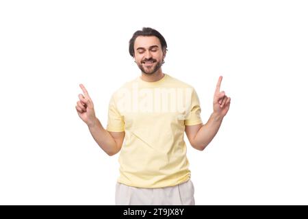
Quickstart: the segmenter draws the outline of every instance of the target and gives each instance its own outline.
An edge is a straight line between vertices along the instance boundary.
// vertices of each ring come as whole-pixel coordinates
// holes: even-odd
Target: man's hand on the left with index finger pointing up
[[[81,83],[79,84],[83,94],[79,94],[79,101],[77,101],[76,110],[78,116],[83,120],[88,126],[94,125],[96,116],[94,112],[94,105],[93,102],[88,94],[88,91]]]

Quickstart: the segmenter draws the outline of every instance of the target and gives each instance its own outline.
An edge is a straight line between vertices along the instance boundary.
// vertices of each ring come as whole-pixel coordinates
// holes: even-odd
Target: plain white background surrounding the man
[[[231,107],[192,149],[197,205],[307,205],[307,1],[1,1],[0,204],[114,205],[118,155],[75,111],[84,83],[107,125],[110,95],[140,75],[128,41],[168,43],[163,72],[190,83],[203,123],[216,82]],[[187,139],[186,139],[187,140]]]

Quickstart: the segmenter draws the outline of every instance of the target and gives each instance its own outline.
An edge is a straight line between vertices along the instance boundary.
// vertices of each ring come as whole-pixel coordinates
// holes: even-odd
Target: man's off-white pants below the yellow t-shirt
[[[136,188],[116,183],[116,205],[194,205],[191,180],[165,188]]]

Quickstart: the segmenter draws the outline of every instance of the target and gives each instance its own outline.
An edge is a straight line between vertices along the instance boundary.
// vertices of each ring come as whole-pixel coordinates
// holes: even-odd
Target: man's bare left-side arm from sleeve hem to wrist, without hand
[[[88,128],[94,140],[107,155],[112,156],[120,151],[125,137],[124,131],[107,131],[103,128],[98,118],[94,120],[93,124],[88,125]]]

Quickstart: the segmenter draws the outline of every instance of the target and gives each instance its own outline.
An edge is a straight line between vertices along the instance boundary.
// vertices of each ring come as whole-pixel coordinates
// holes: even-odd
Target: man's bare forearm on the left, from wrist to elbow
[[[109,131],[103,128],[98,118],[88,128],[94,140],[107,155],[114,155],[118,151],[116,141],[112,138]]]

